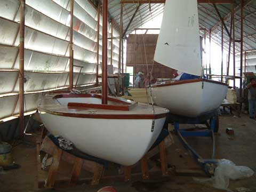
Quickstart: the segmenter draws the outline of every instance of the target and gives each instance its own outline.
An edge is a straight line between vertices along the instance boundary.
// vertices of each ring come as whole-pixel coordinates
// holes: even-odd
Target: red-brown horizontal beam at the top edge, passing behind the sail
[[[198,0],[198,3],[220,3],[220,4],[223,4],[223,3],[231,3],[232,0]],[[130,0],[122,0],[120,1],[120,3],[122,4],[130,4],[130,3],[140,3],[140,4],[143,4],[143,3],[146,3],[146,4],[149,4],[149,3],[165,3],[165,0],[139,0],[139,1],[130,1]]]

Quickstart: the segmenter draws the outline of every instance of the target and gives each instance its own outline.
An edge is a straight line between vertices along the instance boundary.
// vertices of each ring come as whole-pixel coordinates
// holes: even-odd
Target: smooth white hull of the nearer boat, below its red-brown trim
[[[93,119],[41,114],[47,130],[72,141],[86,154],[122,165],[137,163],[156,141],[165,118]]]

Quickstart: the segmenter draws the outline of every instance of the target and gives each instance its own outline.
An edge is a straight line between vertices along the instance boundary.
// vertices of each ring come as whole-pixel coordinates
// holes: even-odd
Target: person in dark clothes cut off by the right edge
[[[251,83],[247,85],[248,101],[249,101],[249,115],[250,118],[256,117],[256,77],[251,78]]]

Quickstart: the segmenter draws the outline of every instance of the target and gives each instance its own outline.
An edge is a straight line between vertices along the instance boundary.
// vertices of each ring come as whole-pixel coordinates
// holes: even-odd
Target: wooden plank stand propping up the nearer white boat
[[[110,183],[110,182],[127,182],[140,179],[152,179],[153,177],[159,178],[159,176],[169,175],[167,169],[167,157],[166,157],[166,146],[171,145],[166,137],[159,145],[148,151],[148,153],[135,165],[132,166],[121,166],[122,174],[107,175],[105,174],[106,167],[100,163],[89,161],[77,157],[73,154],[68,153],[56,146],[49,137],[45,137],[43,141],[37,143],[37,183],[36,188],[63,188],[72,187],[78,184],[86,183],[91,186],[98,185],[99,183]],[[169,143],[169,144],[168,144]],[[44,154],[46,157],[51,158],[43,159]],[[161,169],[149,170],[149,162],[151,159],[159,155],[161,162]],[[68,163],[73,165],[71,175],[65,177],[59,177],[62,171],[60,167],[61,163]],[[135,166],[139,166],[141,172],[133,173],[132,170]],[[46,167],[45,170],[42,169]],[[117,165],[117,164],[115,164]],[[119,167],[118,165],[116,167]],[[81,177],[82,170],[92,174],[90,177]]]

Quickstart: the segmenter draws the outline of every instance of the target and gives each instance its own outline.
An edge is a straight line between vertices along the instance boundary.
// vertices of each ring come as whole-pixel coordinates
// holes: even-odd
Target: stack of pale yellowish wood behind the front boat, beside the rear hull
[[[132,96],[124,95],[124,99],[130,99],[137,102],[143,102],[143,103],[151,103],[148,90],[146,88],[138,89],[138,88],[131,88],[129,89],[129,93]]]

